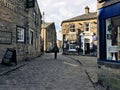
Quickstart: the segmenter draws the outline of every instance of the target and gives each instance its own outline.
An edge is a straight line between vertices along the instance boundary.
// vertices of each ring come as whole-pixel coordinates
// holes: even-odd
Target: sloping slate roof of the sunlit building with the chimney
[[[80,16],[76,16],[67,20],[62,21],[64,22],[73,22],[73,21],[84,21],[84,20],[90,20],[90,19],[97,19],[97,12],[92,12],[89,14],[82,14]]]

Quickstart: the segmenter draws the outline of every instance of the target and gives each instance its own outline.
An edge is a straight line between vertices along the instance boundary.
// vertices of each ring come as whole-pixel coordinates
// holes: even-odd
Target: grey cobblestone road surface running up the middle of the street
[[[0,77],[0,90],[94,90],[82,66],[48,53]]]

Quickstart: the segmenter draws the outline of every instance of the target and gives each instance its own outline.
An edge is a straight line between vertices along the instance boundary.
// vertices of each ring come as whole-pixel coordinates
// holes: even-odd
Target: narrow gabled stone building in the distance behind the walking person
[[[56,28],[54,22],[45,22],[42,24],[41,40],[41,49],[43,49],[42,51],[51,52],[54,44],[57,43]]]

